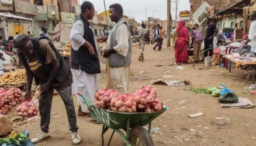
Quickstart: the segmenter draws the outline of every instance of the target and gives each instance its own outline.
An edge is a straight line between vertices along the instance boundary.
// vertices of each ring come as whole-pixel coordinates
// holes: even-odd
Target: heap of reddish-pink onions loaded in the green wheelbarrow
[[[111,89],[95,93],[97,107],[116,112],[158,112],[163,103],[157,98],[156,89],[150,85],[136,90],[134,94],[121,94]]]

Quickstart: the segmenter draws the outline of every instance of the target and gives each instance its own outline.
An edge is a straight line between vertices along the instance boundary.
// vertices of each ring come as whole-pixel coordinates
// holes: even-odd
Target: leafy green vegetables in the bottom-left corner
[[[26,141],[26,134],[25,132],[14,133],[12,132],[11,135],[14,134],[16,136],[9,136],[8,138],[0,138],[0,145],[2,144],[16,144],[17,146],[21,145],[22,142]]]

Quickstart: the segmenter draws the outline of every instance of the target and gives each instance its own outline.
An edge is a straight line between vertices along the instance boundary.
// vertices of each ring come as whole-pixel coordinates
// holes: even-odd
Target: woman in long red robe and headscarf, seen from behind
[[[188,29],[185,27],[184,20],[180,20],[176,28],[176,36],[177,37],[174,40],[176,64],[187,63],[189,33]]]

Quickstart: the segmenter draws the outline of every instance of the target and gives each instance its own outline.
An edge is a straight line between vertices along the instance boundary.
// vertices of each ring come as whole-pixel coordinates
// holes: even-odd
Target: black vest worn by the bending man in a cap
[[[30,37],[30,41],[33,43],[33,46],[34,46],[34,52],[36,54],[36,58],[41,63],[42,67],[50,74],[50,71],[52,70],[52,65],[45,64],[46,56],[42,55],[41,50],[39,48],[39,43],[38,43],[40,39],[48,39],[48,37]],[[60,65],[60,68],[55,77],[55,80],[62,83],[67,78],[70,67],[68,66],[68,62],[64,59],[64,57],[55,48],[52,41],[50,39],[48,39],[48,40],[51,42],[50,46],[51,46],[52,50],[54,51],[56,58],[58,60],[58,63]],[[28,61],[26,59],[26,55],[24,53],[18,52],[18,57],[19,57],[22,65],[26,66],[26,68],[29,68]],[[34,79],[35,79],[36,85],[39,85],[40,79],[36,75],[34,75]]]

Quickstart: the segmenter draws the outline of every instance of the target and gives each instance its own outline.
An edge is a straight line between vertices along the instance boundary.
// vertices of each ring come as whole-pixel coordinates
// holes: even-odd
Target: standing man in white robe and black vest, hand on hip
[[[100,61],[98,55],[98,43],[96,36],[88,20],[94,17],[94,5],[85,1],[81,5],[81,14],[76,18],[71,34],[72,45],[70,67],[73,75],[73,94],[82,93],[89,102],[94,101],[94,94],[98,90]],[[89,116],[89,110],[79,95],[78,116]],[[88,122],[96,122],[93,118]]]

